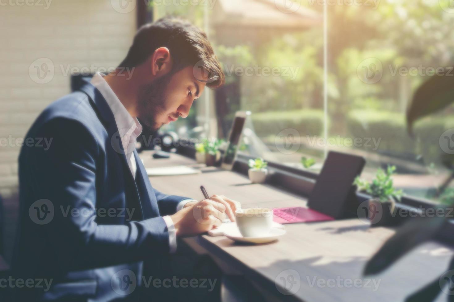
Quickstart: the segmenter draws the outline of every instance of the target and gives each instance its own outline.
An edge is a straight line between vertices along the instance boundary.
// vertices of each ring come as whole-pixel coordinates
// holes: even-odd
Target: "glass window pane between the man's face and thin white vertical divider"
[[[219,135],[237,110],[250,110],[241,152],[303,168],[321,167],[323,149],[322,14],[304,1],[217,1],[210,19],[226,85],[216,91]],[[308,162],[307,162],[308,163]]]

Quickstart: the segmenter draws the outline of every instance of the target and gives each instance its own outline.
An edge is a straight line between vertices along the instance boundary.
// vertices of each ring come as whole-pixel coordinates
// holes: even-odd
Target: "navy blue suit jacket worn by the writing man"
[[[52,284],[47,291],[21,289],[18,300],[127,296],[131,290],[121,282],[135,278],[133,286],[139,286],[142,260],[158,261],[169,252],[160,216],[175,212],[187,197],[153,189],[136,151],[134,180],[112,111],[90,83],[49,105],[27,138],[52,140],[49,148],[24,144],[20,152],[13,270],[17,278]]]

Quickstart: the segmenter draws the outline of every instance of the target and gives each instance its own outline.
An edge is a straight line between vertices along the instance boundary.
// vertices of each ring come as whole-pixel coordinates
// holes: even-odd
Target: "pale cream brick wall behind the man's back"
[[[119,6],[120,1],[128,6]],[[10,259],[20,138],[46,105],[69,93],[71,70],[118,65],[136,31],[135,3],[1,1],[0,24],[0,195],[5,203],[5,255]]]

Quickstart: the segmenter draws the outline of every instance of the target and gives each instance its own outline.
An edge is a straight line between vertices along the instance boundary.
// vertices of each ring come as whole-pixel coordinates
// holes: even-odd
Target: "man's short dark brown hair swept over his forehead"
[[[173,60],[173,73],[194,66],[203,69],[203,74],[208,77],[203,82],[206,82],[208,87],[217,88],[224,84],[225,76],[221,64],[207,35],[181,19],[163,18],[143,25],[137,31],[128,55],[118,67],[137,67],[160,47],[169,49]]]

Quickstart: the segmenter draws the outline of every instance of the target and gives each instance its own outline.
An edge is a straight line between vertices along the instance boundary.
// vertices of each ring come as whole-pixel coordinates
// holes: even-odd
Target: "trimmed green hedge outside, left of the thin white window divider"
[[[298,130],[302,136],[321,135],[323,110],[304,109],[253,113],[252,123],[259,137],[276,135],[287,128]]]

